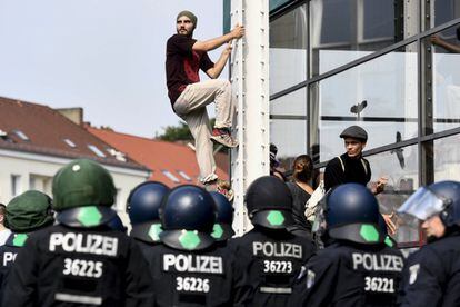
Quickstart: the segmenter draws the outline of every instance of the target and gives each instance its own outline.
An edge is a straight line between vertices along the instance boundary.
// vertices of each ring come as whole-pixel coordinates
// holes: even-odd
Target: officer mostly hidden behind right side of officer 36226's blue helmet
[[[210,195],[216,205],[216,224],[211,236],[218,245],[226,246],[227,241],[234,235],[233,222],[233,206],[222,194],[211,191]]]

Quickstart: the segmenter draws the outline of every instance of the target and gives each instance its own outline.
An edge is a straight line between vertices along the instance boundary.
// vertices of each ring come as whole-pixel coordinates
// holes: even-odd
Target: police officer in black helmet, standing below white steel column
[[[230,241],[237,267],[248,273],[252,288],[250,306],[287,306],[302,264],[313,245],[292,235],[292,196],[284,182],[272,176],[256,179],[248,188],[246,206],[254,228]]]

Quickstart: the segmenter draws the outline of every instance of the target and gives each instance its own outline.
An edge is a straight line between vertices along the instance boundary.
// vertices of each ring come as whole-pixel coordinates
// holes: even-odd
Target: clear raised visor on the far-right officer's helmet
[[[426,187],[419,188],[398,209],[399,214],[407,214],[420,220],[426,220],[444,209],[443,199]]]

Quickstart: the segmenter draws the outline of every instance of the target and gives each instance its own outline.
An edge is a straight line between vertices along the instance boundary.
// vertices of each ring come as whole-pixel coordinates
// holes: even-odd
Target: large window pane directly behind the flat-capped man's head
[[[320,160],[343,152],[340,132],[351,125],[369,135],[366,149],[418,136],[414,44],[321,80],[310,88],[318,116]],[[314,119],[313,119],[314,120]]]

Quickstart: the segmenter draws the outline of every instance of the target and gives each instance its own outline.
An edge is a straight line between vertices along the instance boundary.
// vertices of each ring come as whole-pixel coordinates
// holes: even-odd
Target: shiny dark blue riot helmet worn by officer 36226
[[[203,188],[183,185],[164,197],[160,208],[160,240],[180,250],[200,250],[214,242],[216,205]]]

